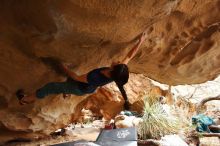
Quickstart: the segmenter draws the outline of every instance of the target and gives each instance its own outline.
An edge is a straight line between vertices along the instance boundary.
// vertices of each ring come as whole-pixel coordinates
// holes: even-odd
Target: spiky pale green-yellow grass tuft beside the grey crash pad
[[[159,139],[166,134],[177,133],[178,120],[170,117],[154,95],[145,97],[143,122],[139,125],[140,139]]]

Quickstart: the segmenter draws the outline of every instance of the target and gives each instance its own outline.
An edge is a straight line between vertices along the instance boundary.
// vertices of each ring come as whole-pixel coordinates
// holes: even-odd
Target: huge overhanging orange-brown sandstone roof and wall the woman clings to
[[[48,57],[72,63],[78,74],[121,60],[144,30],[149,36],[129,63],[131,72],[170,85],[215,78],[219,12],[219,0],[1,0],[0,127],[48,134],[69,123],[85,97],[21,107],[15,91],[64,80],[45,64]]]

